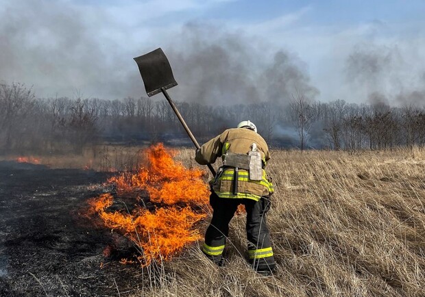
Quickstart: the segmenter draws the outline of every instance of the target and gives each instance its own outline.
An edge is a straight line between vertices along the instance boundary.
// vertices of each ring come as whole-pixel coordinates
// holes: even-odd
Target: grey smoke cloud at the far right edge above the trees
[[[415,54],[420,45],[404,43],[398,47],[363,42],[354,47],[345,61],[345,78],[363,96],[359,99],[374,106],[425,102],[425,68]]]

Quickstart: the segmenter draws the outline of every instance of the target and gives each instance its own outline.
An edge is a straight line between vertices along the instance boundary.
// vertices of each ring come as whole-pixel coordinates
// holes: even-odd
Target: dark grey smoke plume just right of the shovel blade
[[[169,51],[175,78],[182,82],[176,94],[185,101],[220,105],[262,101],[284,105],[296,89],[317,94],[298,57],[262,44],[243,32],[185,25]]]

